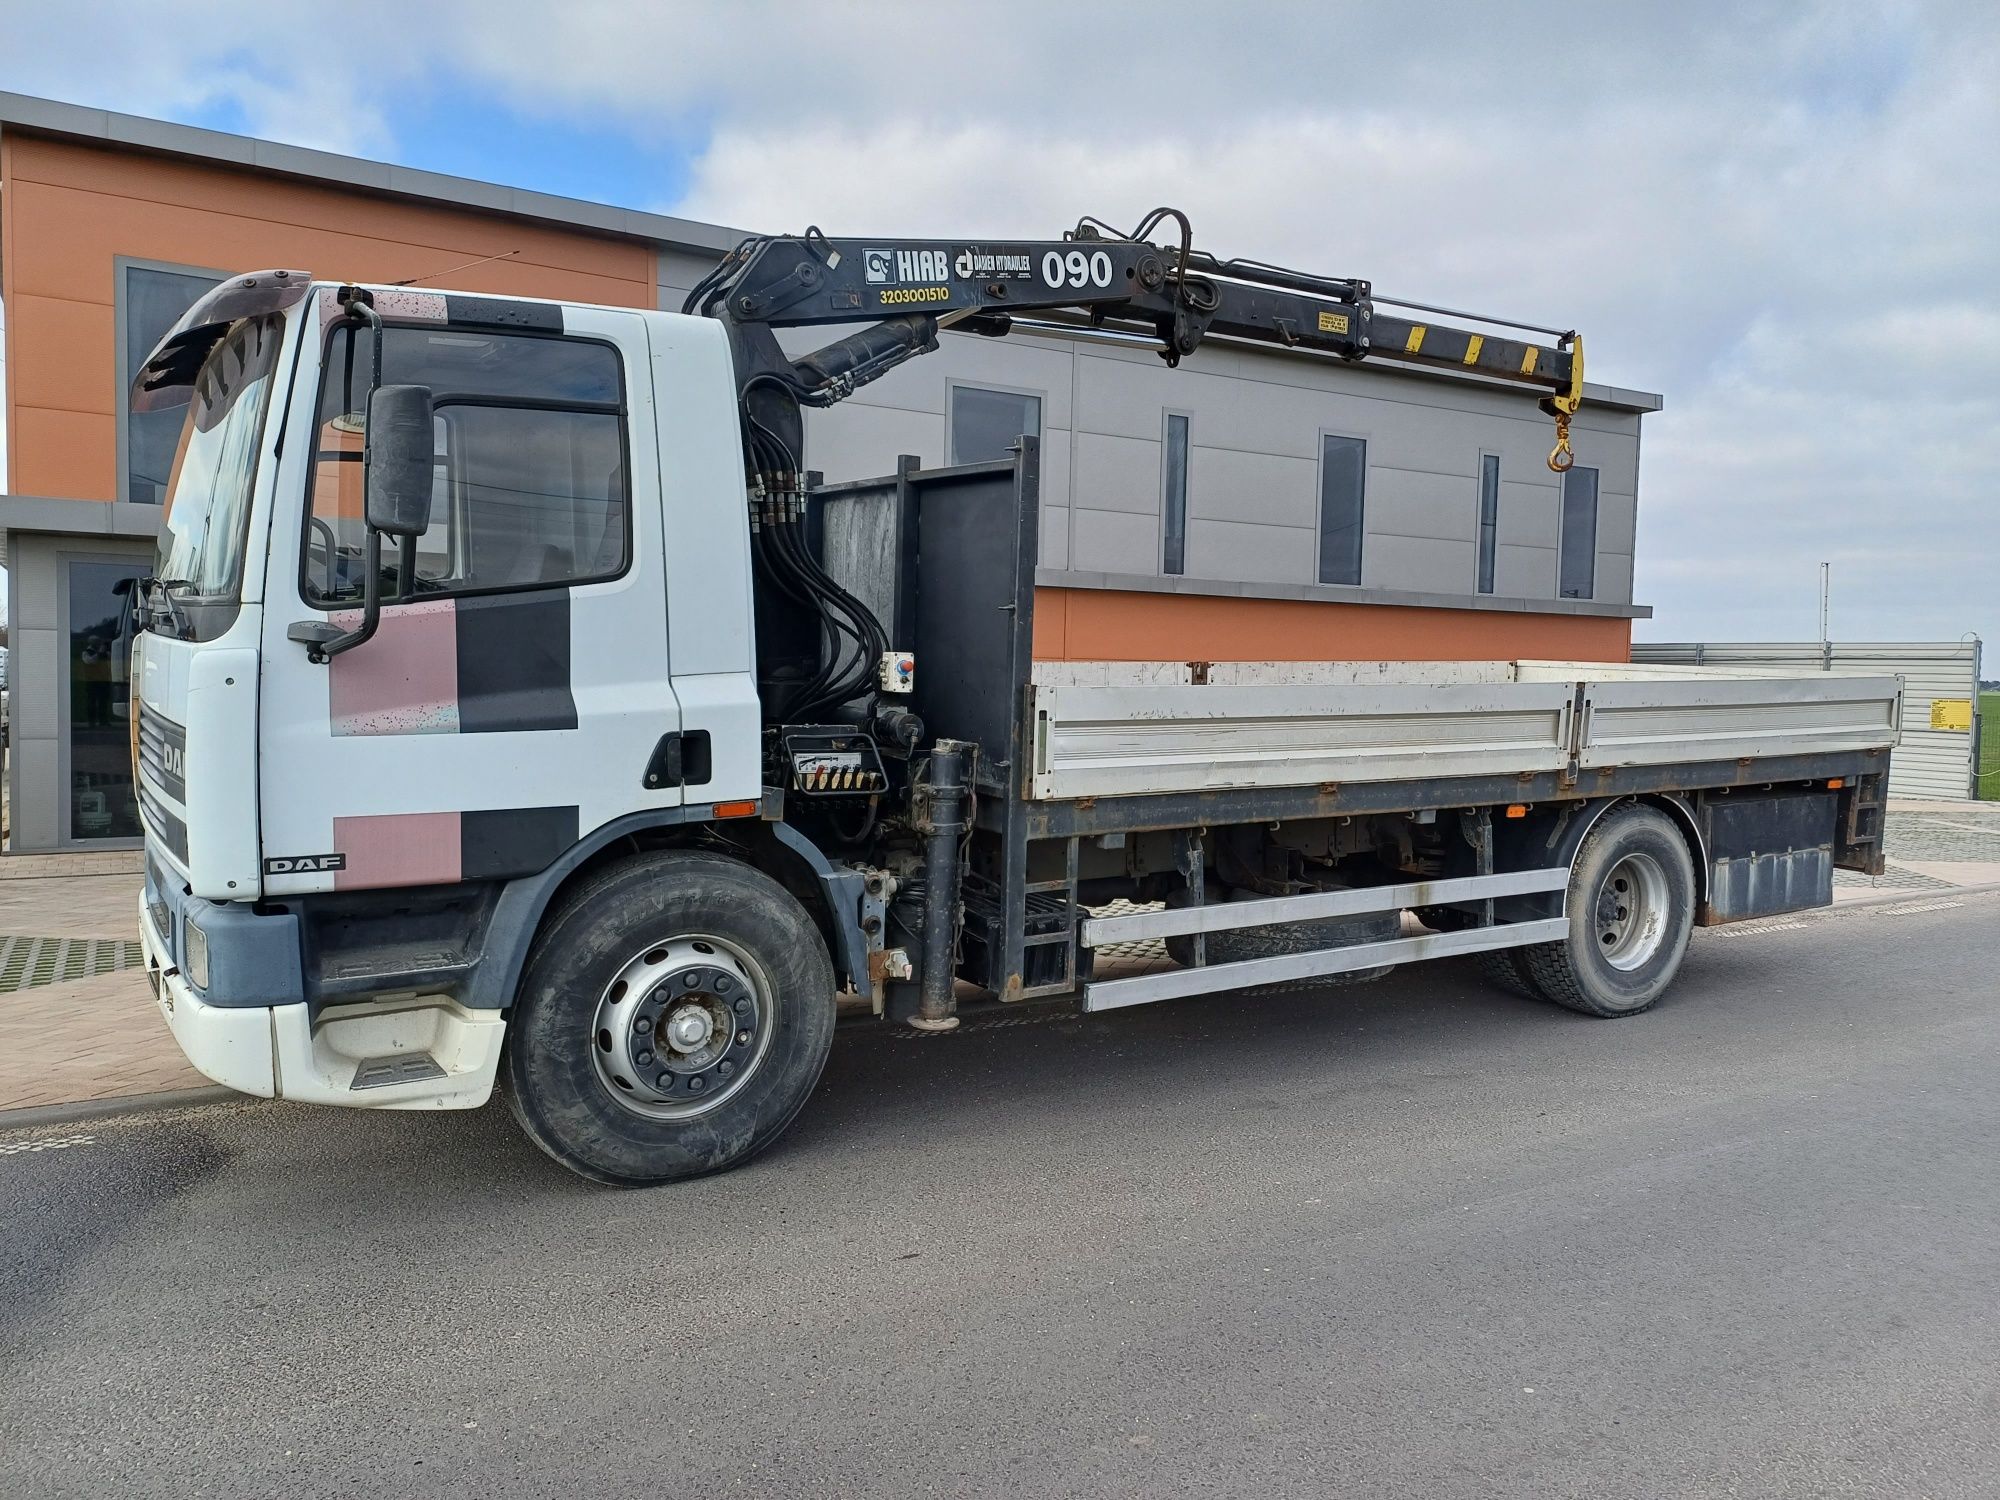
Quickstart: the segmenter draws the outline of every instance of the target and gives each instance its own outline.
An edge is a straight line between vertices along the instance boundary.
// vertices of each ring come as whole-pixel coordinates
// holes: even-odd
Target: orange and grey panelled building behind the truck
[[[1080,204],[1088,208],[1088,204]],[[1052,230],[1054,226],[1026,226]],[[124,588],[178,420],[132,370],[202,290],[290,266],[642,308],[740,238],[660,214],[0,94],[14,850],[132,840]],[[1044,658],[1624,660],[1640,418],[1588,386],[1578,468],[1518,390],[1212,342],[946,336],[808,426],[828,478],[1044,452]]]

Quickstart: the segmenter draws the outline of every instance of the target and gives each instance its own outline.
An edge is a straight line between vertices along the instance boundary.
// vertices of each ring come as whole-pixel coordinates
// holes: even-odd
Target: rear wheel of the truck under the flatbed
[[[1674,982],[1694,928],[1694,862],[1664,812],[1604,814],[1570,866],[1570,936],[1514,948],[1544,1000],[1636,1016]]]

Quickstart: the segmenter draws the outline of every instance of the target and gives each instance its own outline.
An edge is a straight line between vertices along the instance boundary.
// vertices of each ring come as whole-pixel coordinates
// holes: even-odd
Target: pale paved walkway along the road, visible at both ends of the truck
[[[1834,904],[2000,884],[2000,804],[1890,802],[1890,868],[1880,878],[1840,872]],[[138,854],[0,856],[0,946],[138,936]],[[82,940],[82,942],[78,942]],[[122,958],[132,958],[126,950]],[[114,962],[102,948],[94,962]],[[0,982],[20,964],[0,964]],[[86,1104],[202,1088],[152,1002],[140,964],[0,990],[0,1120],[8,1110]]]

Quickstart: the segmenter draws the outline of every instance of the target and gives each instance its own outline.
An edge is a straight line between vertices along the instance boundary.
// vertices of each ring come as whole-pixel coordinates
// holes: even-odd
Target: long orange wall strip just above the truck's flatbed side
[[[1044,662],[1626,662],[1632,622],[1596,614],[1034,590]]]

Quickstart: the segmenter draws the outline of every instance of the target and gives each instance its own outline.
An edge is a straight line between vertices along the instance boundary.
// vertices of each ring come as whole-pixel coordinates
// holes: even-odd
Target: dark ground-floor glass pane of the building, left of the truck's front
[[[138,838],[132,790],[132,578],[140,562],[66,566],[70,838]]]

